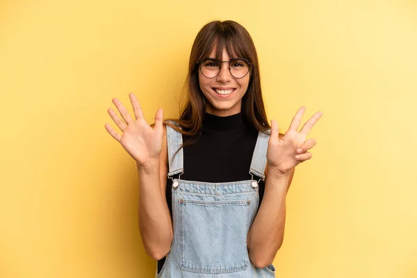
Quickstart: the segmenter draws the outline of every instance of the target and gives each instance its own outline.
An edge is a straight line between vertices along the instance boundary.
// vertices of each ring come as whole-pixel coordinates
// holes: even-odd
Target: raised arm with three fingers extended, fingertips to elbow
[[[314,114],[298,131],[304,111],[304,106],[298,109],[284,136],[279,134],[277,122],[271,121],[271,136],[266,154],[268,177],[265,193],[247,239],[250,260],[258,268],[270,265],[281,247],[284,239],[286,193],[295,166],[309,160],[311,153],[307,151],[316,145],[316,140],[306,140],[306,136],[322,112]]]

